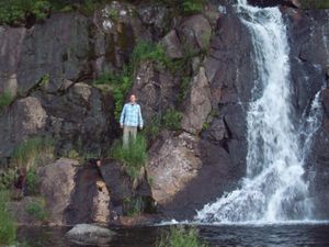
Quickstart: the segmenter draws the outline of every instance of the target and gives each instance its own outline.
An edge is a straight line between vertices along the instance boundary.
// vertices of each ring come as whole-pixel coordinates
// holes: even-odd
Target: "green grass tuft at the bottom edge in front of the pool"
[[[207,247],[208,245],[198,239],[196,228],[184,228],[183,226],[172,226],[169,233],[161,235],[157,247]]]

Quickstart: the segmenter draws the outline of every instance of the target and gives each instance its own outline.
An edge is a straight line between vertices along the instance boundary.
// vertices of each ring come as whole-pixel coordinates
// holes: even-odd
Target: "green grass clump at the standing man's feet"
[[[123,164],[131,178],[137,178],[141,167],[146,164],[146,141],[143,135],[137,135],[135,141],[131,141],[127,147],[124,147],[122,141],[116,141],[112,145],[111,158]]]

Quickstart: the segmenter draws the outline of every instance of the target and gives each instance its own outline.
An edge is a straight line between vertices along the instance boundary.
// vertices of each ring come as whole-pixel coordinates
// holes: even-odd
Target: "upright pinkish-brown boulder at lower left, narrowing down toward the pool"
[[[41,193],[46,200],[52,224],[67,224],[65,211],[76,188],[78,165],[77,160],[61,158],[39,170]]]

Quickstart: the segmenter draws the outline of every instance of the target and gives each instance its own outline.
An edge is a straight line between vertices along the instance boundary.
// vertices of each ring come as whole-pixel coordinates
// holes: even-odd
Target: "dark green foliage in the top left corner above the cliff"
[[[1,0],[0,23],[24,24],[29,18],[46,19],[50,10],[48,0]]]

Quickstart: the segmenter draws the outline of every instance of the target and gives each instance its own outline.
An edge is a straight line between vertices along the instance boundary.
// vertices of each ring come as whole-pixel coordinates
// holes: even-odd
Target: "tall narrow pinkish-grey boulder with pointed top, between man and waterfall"
[[[184,102],[183,130],[193,134],[202,131],[212,111],[211,97],[209,82],[205,69],[201,67],[198,74],[193,78],[190,93]]]

